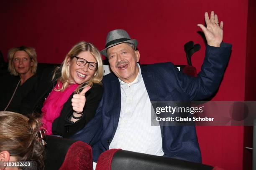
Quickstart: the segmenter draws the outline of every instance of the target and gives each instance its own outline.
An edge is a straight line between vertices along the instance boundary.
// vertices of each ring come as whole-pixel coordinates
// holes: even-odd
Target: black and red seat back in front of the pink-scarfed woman
[[[46,135],[45,170],[92,170],[92,148],[77,140]]]

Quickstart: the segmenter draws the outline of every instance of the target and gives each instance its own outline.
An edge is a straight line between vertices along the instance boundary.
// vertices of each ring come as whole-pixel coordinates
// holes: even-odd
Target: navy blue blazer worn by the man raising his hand
[[[206,56],[197,77],[179,72],[172,63],[141,66],[151,101],[203,100],[218,89],[231,52],[231,45],[207,45]],[[93,161],[108,150],[118,126],[121,94],[118,77],[110,73],[102,80],[104,92],[95,117],[72,138],[89,143]],[[150,113],[148,116],[151,116]],[[161,126],[164,156],[201,163],[195,126]]]

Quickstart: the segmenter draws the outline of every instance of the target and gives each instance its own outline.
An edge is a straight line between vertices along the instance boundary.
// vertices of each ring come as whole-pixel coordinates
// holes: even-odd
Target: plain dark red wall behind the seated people
[[[86,40],[100,50],[110,30],[125,29],[138,40],[141,63],[186,64],[183,45],[202,46],[192,57],[200,70],[204,40],[197,31],[205,11],[224,21],[224,41],[233,44],[223,82],[213,100],[244,100],[248,1],[244,0],[44,0],[0,2],[0,49],[28,45],[38,61],[60,63],[75,43]],[[254,18],[255,19],[255,18]],[[247,58],[248,59],[248,58]],[[254,57],[255,60],[255,57]],[[227,170],[243,167],[243,127],[197,127],[203,163]]]

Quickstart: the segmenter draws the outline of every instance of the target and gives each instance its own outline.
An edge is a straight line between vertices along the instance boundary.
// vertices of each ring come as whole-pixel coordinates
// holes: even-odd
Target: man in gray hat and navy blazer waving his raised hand
[[[205,13],[205,22],[206,28],[198,24],[207,47],[197,77],[184,75],[172,63],[142,67],[138,64],[137,40],[125,30],[108,33],[101,53],[108,57],[114,74],[102,80],[104,94],[95,119],[74,136],[93,145],[94,162],[105,150],[121,148],[201,163],[195,126],[151,126],[151,101],[203,100],[218,89],[231,45],[221,43],[223,22],[219,24],[213,11],[210,19]]]

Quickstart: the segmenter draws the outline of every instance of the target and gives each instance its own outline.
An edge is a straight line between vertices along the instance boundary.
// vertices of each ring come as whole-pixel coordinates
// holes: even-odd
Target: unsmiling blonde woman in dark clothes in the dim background
[[[5,78],[1,89],[0,110],[18,112],[23,98],[36,83],[37,59],[36,50],[32,47],[14,47],[8,51],[8,70],[10,75]]]

